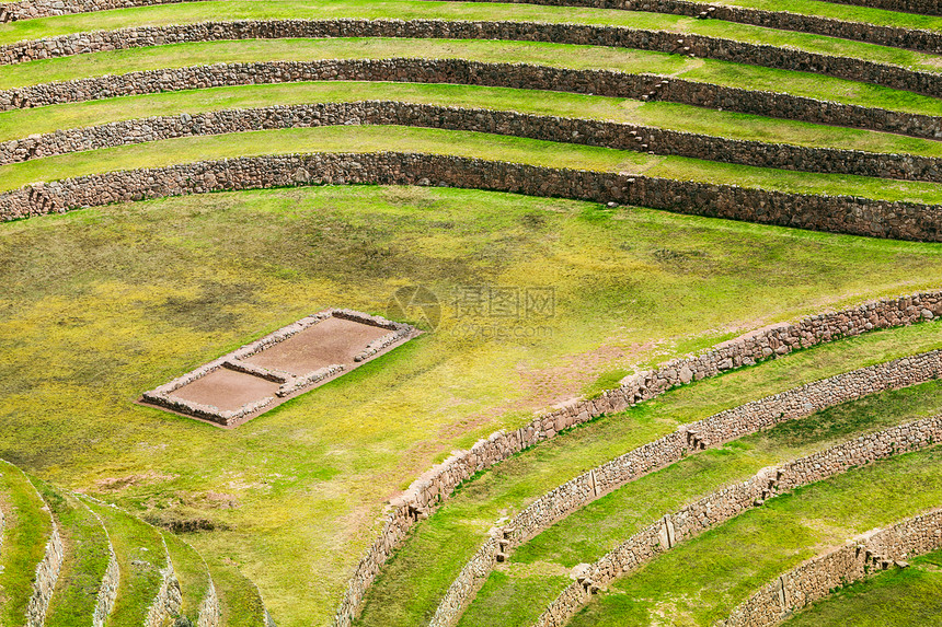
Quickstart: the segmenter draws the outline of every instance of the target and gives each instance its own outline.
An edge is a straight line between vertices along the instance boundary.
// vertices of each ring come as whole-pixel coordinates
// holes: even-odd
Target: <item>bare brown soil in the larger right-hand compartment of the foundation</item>
[[[329,317],[244,361],[300,376],[334,363],[349,365],[369,342],[389,333],[378,326]]]

